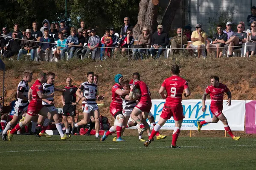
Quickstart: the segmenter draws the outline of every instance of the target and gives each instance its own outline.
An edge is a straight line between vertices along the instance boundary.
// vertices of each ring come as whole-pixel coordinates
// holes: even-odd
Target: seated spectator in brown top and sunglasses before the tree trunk
[[[143,52],[146,51],[146,49],[141,48],[150,48],[151,45],[152,36],[149,32],[148,27],[144,27],[142,29],[142,34],[140,34],[138,38],[138,45],[134,45],[134,53],[136,55],[136,59],[139,58],[138,54],[140,54],[140,58],[143,59]]]

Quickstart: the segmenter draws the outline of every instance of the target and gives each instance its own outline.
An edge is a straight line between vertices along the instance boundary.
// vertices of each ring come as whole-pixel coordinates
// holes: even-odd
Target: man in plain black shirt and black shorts
[[[65,90],[61,95],[61,101],[63,104],[63,120],[64,125],[66,128],[66,135],[70,135],[69,131],[69,125],[67,116],[71,117],[71,125],[73,127],[73,124],[75,124],[75,116],[76,116],[76,105],[80,101],[80,98],[76,101],[76,91],[77,87],[72,85],[72,79],[70,77],[67,77],[66,79],[67,86],[65,87]]]

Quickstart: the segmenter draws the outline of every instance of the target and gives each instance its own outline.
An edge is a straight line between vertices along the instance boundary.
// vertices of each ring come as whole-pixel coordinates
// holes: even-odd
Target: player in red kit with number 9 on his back
[[[166,102],[163,106],[163,111],[160,116],[157,125],[154,126],[154,129],[151,132],[150,137],[144,146],[148,147],[151,143],[151,140],[154,138],[156,133],[160,128],[165,124],[165,122],[170,119],[172,116],[175,120],[175,128],[172,133],[172,145],[171,148],[180,148],[176,145],[180,133],[180,127],[184,118],[183,107],[181,104],[182,94],[185,91],[184,96],[188,97],[190,95],[189,86],[185,79],[180,77],[180,68],[178,65],[172,65],[171,68],[172,77],[169,77],[163,81],[163,84],[159,90],[159,94],[163,99],[166,99]],[[166,91],[166,94],[164,94]]]

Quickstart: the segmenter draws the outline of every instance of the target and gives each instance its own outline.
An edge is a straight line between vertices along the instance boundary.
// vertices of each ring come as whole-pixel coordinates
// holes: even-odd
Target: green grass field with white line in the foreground
[[[256,139],[179,137],[180,149],[169,148],[171,137],[144,147],[137,137],[124,136],[126,142],[104,142],[94,136],[36,138],[15,135],[12,142],[0,141],[0,169],[255,169]]]

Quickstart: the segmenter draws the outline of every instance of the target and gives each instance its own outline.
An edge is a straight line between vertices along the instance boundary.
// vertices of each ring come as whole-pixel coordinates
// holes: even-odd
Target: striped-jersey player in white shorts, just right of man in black
[[[82,99],[82,108],[84,119],[80,122],[76,123],[73,128],[72,132],[76,133],[75,130],[77,127],[81,125],[87,125],[90,122],[90,116],[92,115],[95,119],[95,138],[100,139],[99,137],[99,107],[96,103],[96,96],[98,95],[98,88],[97,85],[93,83],[94,80],[94,73],[88,72],[87,73],[87,82],[81,83],[79,88],[76,91],[76,96],[79,96]],[[82,94],[81,94],[82,92]]]

